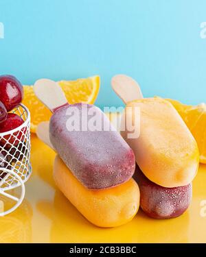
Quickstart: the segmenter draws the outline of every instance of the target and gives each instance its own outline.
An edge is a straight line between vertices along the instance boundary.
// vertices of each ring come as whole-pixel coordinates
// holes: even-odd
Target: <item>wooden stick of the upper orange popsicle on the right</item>
[[[115,75],[111,79],[111,85],[115,93],[124,103],[143,98],[139,84],[132,77],[122,74]]]

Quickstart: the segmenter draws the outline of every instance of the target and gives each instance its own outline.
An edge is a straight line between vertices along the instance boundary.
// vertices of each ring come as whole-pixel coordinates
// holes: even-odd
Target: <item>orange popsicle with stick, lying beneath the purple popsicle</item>
[[[37,135],[54,149],[49,141],[48,122],[38,125]],[[54,180],[71,204],[87,220],[99,227],[111,228],[123,225],[133,219],[139,209],[139,187],[133,178],[113,188],[91,190],[84,187],[56,155]]]

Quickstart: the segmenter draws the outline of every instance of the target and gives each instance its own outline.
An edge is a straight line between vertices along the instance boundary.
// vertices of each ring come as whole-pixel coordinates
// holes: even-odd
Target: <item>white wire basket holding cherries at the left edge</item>
[[[32,167],[30,164],[30,112],[21,104],[12,113],[19,115],[24,123],[14,130],[0,133],[0,217],[15,210],[23,201],[25,195],[24,183],[30,178]],[[11,191],[20,187],[21,193],[16,197]],[[16,204],[4,210],[6,198]]]

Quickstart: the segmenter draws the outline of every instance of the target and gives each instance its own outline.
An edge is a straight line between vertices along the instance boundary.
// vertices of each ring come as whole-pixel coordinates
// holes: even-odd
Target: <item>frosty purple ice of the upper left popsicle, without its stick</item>
[[[69,108],[73,107],[77,108],[79,113],[82,112],[82,108],[92,108],[92,112],[100,117],[102,124],[109,127],[109,130],[69,131],[68,112]],[[77,123],[78,117],[74,117]],[[50,120],[49,137],[52,145],[73,175],[89,189],[117,186],[128,181],[135,171],[133,150],[117,131],[111,130],[111,127],[102,110],[85,103],[60,108],[54,112]]]

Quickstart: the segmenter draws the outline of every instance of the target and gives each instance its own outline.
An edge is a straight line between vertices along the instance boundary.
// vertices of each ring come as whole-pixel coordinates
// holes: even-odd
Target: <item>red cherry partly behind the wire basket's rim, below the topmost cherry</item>
[[[8,132],[10,130],[14,130],[16,127],[19,127],[23,124],[24,121],[19,117],[19,115],[14,113],[8,113],[7,119],[1,123],[0,133]],[[12,146],[18,145],[21,141],[24,140],[23,132],[25,128],[21,131],[16,131],[13,134],[8,134],[3,136],[0,140],[0,145],[6,148],[10,148]]]

